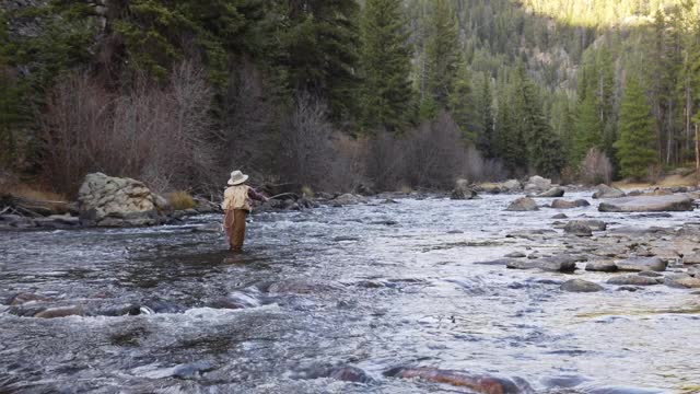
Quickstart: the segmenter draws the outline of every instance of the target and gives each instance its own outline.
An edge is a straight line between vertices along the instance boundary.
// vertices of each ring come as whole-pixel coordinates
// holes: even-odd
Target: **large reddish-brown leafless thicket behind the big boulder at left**
[[[159,192],[207,182],[214,158],[210,103],[202,72],[188,63],[165,88],[137,78],[121,95],[85,74],[69,77],[49,97],[42,123],[45,175],[68,194],[94,171],[136,177]]]

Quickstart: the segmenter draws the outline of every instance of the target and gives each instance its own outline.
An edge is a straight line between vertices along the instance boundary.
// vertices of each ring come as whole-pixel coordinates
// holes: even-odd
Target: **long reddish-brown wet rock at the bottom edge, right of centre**
[[[395,368],[384,372],[385,376],[416,379],[466,387],[481,394],[530,394],[534,390],[523,380],[471,374],[463,371],[436,368]]]

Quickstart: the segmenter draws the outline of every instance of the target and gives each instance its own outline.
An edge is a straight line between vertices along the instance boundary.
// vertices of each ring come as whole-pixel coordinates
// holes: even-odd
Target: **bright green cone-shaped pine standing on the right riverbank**
[[[657,163],[654,151],[654,120],[644,90],[635,79],[628,81],[620,108],[620,139],[616,142],[620,174],[642,179]]]

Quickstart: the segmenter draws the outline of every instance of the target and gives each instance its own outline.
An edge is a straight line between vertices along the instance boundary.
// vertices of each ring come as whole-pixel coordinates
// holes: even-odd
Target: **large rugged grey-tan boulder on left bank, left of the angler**
[[[81,222],[98,227],[138,227],[163,223],[159,197],[143,183],[94,173],[78,192]]]

